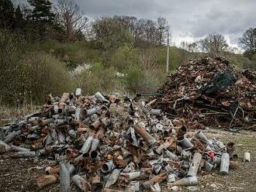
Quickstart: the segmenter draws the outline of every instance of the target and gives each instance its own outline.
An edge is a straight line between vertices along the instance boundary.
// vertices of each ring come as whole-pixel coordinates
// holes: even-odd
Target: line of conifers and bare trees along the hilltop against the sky
[[[167,19],[137,19],[133,16],[102,17],[89,22],[85,13],[71,0],[27,0],[30,6],[2,0],[0,27],[22,32],[29,39],[52,38],[61,42],[87,39],[95,48],[116,49],[125,43],[137,47],[161,46],[166,40],[164,28],[170,29]],[[219,33],[211,33],[195,43],[182,43],[191,52],[220,54],[230,51],[227,40]],[[256,28],[252,27],[240,38],[246,55],[256,53]]]

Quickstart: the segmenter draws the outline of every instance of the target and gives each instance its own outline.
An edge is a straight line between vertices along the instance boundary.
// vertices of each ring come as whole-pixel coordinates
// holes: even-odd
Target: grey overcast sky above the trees
[[[14,0],[22,2],[24,0]],[[52,0],[57,1],[57,0]],[[133,15],[138,19],[165,17],[172,42],[192,42],[208,33],[222,33],[230,45],[256,26],[256,0],[74,0],[88,17]]]

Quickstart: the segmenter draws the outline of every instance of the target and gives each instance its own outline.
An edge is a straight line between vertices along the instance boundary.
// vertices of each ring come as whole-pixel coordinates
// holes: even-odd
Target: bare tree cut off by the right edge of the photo
[[[256,53],[256,28],[247,29],[247,31],[240,38],[240,45],[249,54]]]

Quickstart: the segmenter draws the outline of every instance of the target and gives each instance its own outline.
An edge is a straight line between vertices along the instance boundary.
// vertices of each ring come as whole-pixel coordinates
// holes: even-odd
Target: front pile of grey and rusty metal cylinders
[[[237,166],[234,143],[227,146],[201,131],[186,136],[153,102],[115,96],[64,93],[40,112],[1,130],[0,151],[12,158],[48,158],[56,166],[36,179],[38,188],[60,180],[61,191],[74,182],[82,191],[161,191],[198,183],[198,174]]]

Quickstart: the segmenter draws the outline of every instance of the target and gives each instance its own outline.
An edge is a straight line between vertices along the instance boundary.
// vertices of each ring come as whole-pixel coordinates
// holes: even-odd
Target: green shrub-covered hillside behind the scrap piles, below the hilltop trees
[[[42,104],[47,94],[62,94],[75,87],[85,94],[154,92],[166,81],[166,46],[140,49],[124,44],[115,50],[101,50],[86,41],[27,43],[11,33],[0,32],[0,36],[0,105]],[[202,56],[172,46],[169,72]],[[227,57],[237,68],[256,66],[255,60],[243,55]]]

